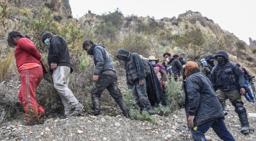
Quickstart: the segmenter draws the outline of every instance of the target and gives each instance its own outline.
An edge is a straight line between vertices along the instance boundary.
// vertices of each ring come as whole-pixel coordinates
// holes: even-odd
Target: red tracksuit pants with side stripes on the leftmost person
[[[21,70],[20,74],[21,88],[18,92],[18,99],[24,106],[26,119],[30,119],[32,117],[28,116],[29,110],[33,112],[34,116],[39,116],[44,112],[36,99],[36,88],[43,78],[43,70],[41,67],[34,67],[32,69]],[[38,117],[34,117],[34,120],[38,121]]]

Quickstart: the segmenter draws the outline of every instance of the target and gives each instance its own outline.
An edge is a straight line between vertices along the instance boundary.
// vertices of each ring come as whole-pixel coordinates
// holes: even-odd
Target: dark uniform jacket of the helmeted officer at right
[[[238,66],[230,61],[226,61],[224,65],[218,63],[214,66],[210,81],[217,86],[217,89],[223,91],[246,88],[244,74]],[[236,87],[236,83],[240,88]]]

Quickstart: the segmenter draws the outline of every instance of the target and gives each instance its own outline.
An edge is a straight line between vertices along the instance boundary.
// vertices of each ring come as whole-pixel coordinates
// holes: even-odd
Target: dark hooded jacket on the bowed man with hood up
[[[123,58],[119,58],[118,55],[121,55]],[[146,77],[145,67],[137,53],[130,53],[120,48],[117,51],[116,57],[125,61],[127,82],[133,83],[136,80],[144,80],[144,77]]]

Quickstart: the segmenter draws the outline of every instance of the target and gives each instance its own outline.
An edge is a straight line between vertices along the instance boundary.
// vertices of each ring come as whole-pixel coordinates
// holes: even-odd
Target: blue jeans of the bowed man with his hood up
[[[129,89],[132,89],[133,97],[135,98],[136,104],[140,107],[140,111],[151,110],[151,105],[146,94],[146,81],[144,78],[144,85],[139,85],[139,80],[134,81],[133,83],[128,83]]]

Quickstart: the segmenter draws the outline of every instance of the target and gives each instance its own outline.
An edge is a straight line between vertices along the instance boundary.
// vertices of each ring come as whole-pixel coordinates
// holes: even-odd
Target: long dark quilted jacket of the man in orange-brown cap
[[[194,126],[197,127],[208,121],[224,117],[222,106],[214,92],[209,79],[199,70],[187,76],[183,86],[185,91],[185,111],[187,119],[194,117]],[[191,128],[188,126],[188,128]]]

